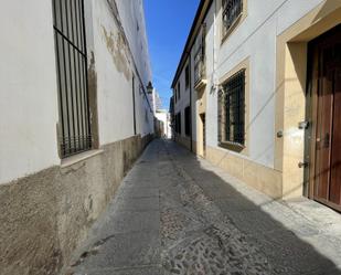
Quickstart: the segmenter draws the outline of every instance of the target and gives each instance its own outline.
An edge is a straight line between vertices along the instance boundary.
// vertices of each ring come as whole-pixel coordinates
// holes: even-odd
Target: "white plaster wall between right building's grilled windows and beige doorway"
[[[219,46],[216,78],[249,59],[251,117],[246,124],[251,137],[249,158],[270,168],[275,158],[276,38],[320,2],[322,0],[267,0],[260,6],[257,0],[248,0],[246,19]],[[217,22],[221,23],[219,17]],[[217,25],[217,30],[220,28]],[[220,44],[219,35],[215,40]],[[207,43],[213,45],[212,40]],[[207,145],[217,147],[216,93],[207,99]]]

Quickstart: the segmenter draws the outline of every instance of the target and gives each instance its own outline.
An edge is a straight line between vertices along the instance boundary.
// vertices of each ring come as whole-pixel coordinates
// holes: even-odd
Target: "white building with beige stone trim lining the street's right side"
[[[175,139],[274,199],[341,210],[340,23],[338,0],[201,1],[172,83]]]

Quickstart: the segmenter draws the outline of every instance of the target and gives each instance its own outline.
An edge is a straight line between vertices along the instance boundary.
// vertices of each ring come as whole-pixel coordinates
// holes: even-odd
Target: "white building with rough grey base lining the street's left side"
[[[0,273],[58,274],[153,136],[142,1],[0,6]]]

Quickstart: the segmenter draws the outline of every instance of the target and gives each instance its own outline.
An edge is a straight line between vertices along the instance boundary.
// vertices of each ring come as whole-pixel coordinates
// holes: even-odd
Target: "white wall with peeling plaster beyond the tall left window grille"
[[[152,119],[147,115],[148,106],[146,97],[139,93],[140,84],[147,86],[150,75],[143,72],[150,72],[147,54],[136,54],[132,59],[129,47],[143,45],[147,47],[147,40],[143,35],[136,35],[136,24],[129,22],[126,18],[136,18],[140,25],[140,32],[143,32],[143,14],[140,13],[139,1],[118,1],[117,8],[121,23],[127,34],[129,47],[124,43],[119,34],[117,23],[113,18],[110,7],[106,0],[93,1],[94,4],[94,40],[95,40],[95,62],[97,72],[97,98],[98,98],[98,125],[99,144],[110,144],[134,135],[134,106],[132,106],[132,75],[135,75],[136,87],[136,114],[138,133],[142,136],[150,133]],[[146,50],[147,51],[147,50]],[[146,60],[147,59],[147,60]],[[147,70],[140,68],[146,64]],[[142,83],[139,82],[138,74]],[[147,112],[149,113],[149,112]],[[141,119],[142,118],[142,119]]]

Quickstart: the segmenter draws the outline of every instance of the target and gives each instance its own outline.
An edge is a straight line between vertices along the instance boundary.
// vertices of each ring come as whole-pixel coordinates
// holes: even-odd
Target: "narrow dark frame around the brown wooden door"
[[[308,71],[307,71],[307,116],[308,121],[310,121],[309,130],[306,135],[306,145],[309,145],[309,149],[306,151],[305,158],[308,161],[309,166],[306,168],[308,174],[308,198],[311,200],[316,200],[320,203],[323,203],[339,212],[341,212],[341,205],[330,202],[329,200],[324,200],[316,197],[316,150],[317,150],[317,121],[318,121],[318,63],[315,62],[315,59],[318,59],[316,55],[315,46],[319,44],[322,40],[328,39],[333,35],[333,33],[341,30],[341,24],[337,25],[332,30],[327,31],[320,36],[308,43]]]

